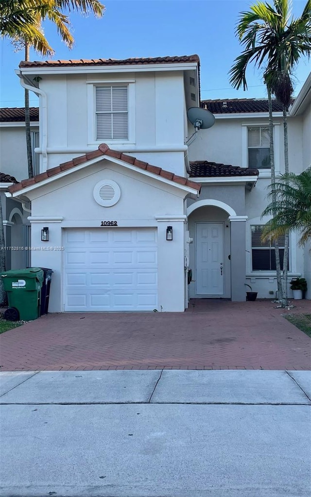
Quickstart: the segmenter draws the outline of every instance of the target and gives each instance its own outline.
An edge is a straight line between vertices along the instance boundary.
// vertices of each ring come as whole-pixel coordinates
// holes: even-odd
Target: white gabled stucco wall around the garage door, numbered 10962
[[[104,208],[93,198],[96,183],[109,178],[121,189],[120,200],[112,207]],[[158,230],[158,306],[159,311],[182,312],[185,309],[184,294],[184,230],[183,221],[158,221],[157,215],[184,214],[184,192],[160,181],[147,178],[141,173],[101,161],[81,171],[55,181],[52,189],[44,186],[29,192],[32,199],[32,216],[62,216],[62,222],[49,220],[34,222],[31,233],[34,247],[63,247],[64,228],[100,228],[102,220],[117,220],[122,227],[156,227]],[[173,241],[166,241],[167,225],[173,226]],[[41,242],[43,226],[49,227],[49,242]],[[53,269],[50,294],[50,312],[63,311],[63,250],[33,250],[34,266]]]

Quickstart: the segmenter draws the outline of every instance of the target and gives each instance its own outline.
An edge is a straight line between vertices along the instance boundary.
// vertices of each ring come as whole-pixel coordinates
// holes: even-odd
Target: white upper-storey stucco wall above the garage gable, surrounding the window
[[[47,97],[48,168],[98,148],[103,140],[96,141],[91,131],[95,122],[93,88],[97,83],[118,82],[128,82],[130,88],[129,140],[106,143],[111,149],[129,152],[156,166],[170,166],[184,175],[183,71],[45,75],[40,88]]]

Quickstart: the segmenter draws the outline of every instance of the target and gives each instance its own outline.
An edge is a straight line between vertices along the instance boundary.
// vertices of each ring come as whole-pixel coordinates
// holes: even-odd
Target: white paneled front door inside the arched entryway
[[[223,224],[196,224],[196,294],[223,295]]]

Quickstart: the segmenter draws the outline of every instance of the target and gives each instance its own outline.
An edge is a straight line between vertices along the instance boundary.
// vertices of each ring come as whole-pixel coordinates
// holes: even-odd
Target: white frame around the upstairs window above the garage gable
[[[96,87],[101,86],[127,86],[128,87],[128,137],[118,140],[97,140],[96,139]],[[87,82],[88,92],[88,145],[99,145],[106,143],[114,144],[135,144],[135,80],[105,80]]]

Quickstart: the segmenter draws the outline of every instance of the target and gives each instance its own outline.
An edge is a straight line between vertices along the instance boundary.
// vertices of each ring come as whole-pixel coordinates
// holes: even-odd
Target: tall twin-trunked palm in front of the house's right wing
[[[311,55],[311,0],[308,0],[301,17],[291,17],[291,0],[273,0],[269,3],[258,1],[250,7],[250,11],[241,12],[236,28],[243,52],[235,59],[235,64],[230,69],[230,83],[235,88],[243,85],[247,89],[246,69],[250,62],[261,68],[265,67],[264,82],[267,85],[269,100],[269,126],[270,126],[270,159],[272,203],[276,205],[276,192],[273,189],[275,181],[275,167],[273,160],[273,119],[271,95],[283,98],[285,106],[285,166],[288,170],[288,142],[286,109],[292,94],[290,75],[302,55]],[[290,84],[289,84],[290,83]],[[286,95],[287,100],[286,100]],[[284,113],[283,113],[284,115]],[[276,214],[276,213],[274,213]],[[282,295],[282,306],[287,305],[287,261],[283,264],[284,284],[282,286],[281,266],[278,240],[275,239],[276,272],[279,294]],[[288,242],[285,258],[288,259]]]

